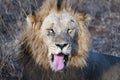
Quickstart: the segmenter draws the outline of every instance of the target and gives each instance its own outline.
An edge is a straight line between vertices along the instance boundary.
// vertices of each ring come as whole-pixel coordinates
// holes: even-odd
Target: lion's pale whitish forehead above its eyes
[[[48,28],[52,23],[56,26],[61,26],[60,28],[65,28],[68,26],[68,23],[70,23],[71,20],[75,22],[75,23],[71,23],[71,25],[73,25],[73,27],[76,27],[77,23],[70,13],[52,12],[44,19],[42,28]]]

